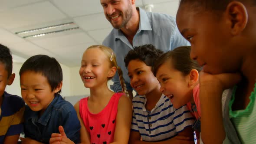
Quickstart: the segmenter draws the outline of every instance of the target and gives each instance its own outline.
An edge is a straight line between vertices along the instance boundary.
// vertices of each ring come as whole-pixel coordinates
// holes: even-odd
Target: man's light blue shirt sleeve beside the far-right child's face
[[[190,43],[181,35],[177,26],[175,26],[174,35],[171,37],[171,50],[179,46],[190,46]]]

